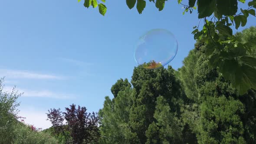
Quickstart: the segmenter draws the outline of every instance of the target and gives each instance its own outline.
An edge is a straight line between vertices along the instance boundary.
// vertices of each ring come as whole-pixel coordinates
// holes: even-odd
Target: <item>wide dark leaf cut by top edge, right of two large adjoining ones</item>
[[[233,16],[237,12],[237,0],[217,0],[217,10],[221,15]]]

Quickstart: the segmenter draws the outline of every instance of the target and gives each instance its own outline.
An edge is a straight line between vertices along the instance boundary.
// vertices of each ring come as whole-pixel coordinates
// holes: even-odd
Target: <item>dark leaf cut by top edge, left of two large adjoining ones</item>
[[[213,14],[216,0],[198,0],[198,18],[204,18]]]

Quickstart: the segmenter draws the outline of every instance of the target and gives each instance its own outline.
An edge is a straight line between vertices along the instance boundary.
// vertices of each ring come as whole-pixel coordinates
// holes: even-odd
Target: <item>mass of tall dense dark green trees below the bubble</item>
[[[247,43],[255,32],[251,27],[235,36]],[[105,97],[99,111],[100,143],[256,143],[256,91],[238,95],[238,89],[208,65],[206,49],[207,44],[198,41],[178,71],[171,66],[136,67],[133,87],[118,80],[112,86],[115,97]],[[247,54],[255,58],[255,50],[253,46]]]

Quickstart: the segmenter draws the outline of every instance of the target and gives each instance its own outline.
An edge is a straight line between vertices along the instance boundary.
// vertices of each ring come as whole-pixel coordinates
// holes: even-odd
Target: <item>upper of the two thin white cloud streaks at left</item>
[[[0,69],[0,75],[5,76],[8,79],[63,79],[63,77],[56,75],[11,69]]]

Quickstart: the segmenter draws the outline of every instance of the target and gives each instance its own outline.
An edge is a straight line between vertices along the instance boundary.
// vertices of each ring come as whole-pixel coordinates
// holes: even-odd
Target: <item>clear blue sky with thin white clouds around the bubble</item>
[[[16,85],[24,92],[19,109],[26,122],[47,128],[47,110],[72,103],[98,111],[106,95],[113,97],[110,88],[118,79],[131,79],[135,43],[151,29],[176,36],[178,52],[169,63],[174,69],[194,48],[197,12],[182,15],[176,0],[166,2],[161,12],[147,1],[141,15],[125,0],[105,5],[102,16],[76,0],[0,1],[0,77],[6,77],[6,89]],[[250,16],[246,27],[255,23]]]

